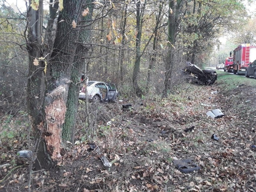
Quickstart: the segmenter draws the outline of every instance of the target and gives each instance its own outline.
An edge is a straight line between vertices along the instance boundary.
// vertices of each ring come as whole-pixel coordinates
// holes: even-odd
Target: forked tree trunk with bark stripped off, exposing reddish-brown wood
[[[29,12],[29,14],[31,14],[29,21],[31,22],[29,22],[28,49],[29,46],[35,44],[33,49],[29,49],[29,74],[31,74],[31,79],[36,78],[35,74],[42,72],[42,70],[38,70],[38,72],[35,73],[36,69],[33,65],[33,57],[41,57],[39,49],[41,41],[38,41],[39,37],[41,38],[41,33],[39,34],[36,29],[34,30],[34,28],[37,27],[36,24],[38,24],[39,29],[42,29],[40,21],[42,19],[43,6],[42,1],[39,2],[39,9],[35,11],[30,8],[31,10]],[[63,1],[64,8],[59,13],[53,52],[48,62],[50,78],[47,79],[47,93],[45,96],[39,94],[41,82],[38,79],[34,80],[36,84],[34,84],[33,81],[29,81],[28,83],[28,99],[30,99],[28,102],[28,111],[38,144],[36,162],[36,168],[38,169],[54,166],[57,162],[61,161],[62,126],[67,109],[66,103],[68,100],[70,80],[72,80],[72,66],[75,63],[77,48],[80,47],[79,43],[83,43],[79,35],[80,30],[72,28],[71,24],[73,20],[79,23],[84,18],[81,13],[86,9],[86,3],[85,0]],[[64,21],[60,22],[62,20]],[[34,23],[32,21],[34,21]],[[31,39],[31,36],[34,34],[39,35],[37,38]],[[34,52],[37,50],[36,53],[34,53],[33,50]],[[40,63],[39,66],[43,66],[43,63]],[[38,86],[35,87],[34,85],[37,84]],[[78,95],[76,97],[78,97]],[[38,101],[40,101],[40,99],[44,99],[44,103],[39,103]],[[71,100],[74,101],[72,98]]]

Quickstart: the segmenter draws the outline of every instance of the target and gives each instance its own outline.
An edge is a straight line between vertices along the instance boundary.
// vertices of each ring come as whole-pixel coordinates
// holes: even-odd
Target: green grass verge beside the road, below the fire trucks
[[[217,71],[218,81],[217,84],[224,87],[224,90],[233,90],[237,86],[244,84],[247,86],[256,86],[256,80],[254,78],[246,78],[242,75],[233,75],[227,72]]]

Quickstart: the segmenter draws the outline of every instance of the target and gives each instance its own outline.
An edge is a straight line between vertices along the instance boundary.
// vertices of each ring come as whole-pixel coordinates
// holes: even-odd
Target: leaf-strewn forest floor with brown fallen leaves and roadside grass
[[[16,154],[30,142],[26,114],[4,115],[0,165],[10,166],[0,168],[0,191],[254,191],[256,80],[244,83],[245,78],[233,76],[220,72],[213,86],[184,84],[166,99],[155,96],[139,101],[143,105],[133,102],[132,108],[122,108],[128,101],[91,104],[97,114],[93,142],[88,142],[81,102],[79,142],[52,170],[35,171],[29,161],[20,163]],[[206,116],[217,108],[224,117]],[[191,126],[194,130],[184,132]],[[96,145],[109,162],[116,160],[111,168],[90,150]],[[173,160],[188,158],[200,170],[175,168]]]

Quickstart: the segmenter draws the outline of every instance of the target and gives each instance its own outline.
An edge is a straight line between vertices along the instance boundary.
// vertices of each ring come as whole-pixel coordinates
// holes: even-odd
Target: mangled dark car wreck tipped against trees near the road
[[[212,85],[217,79],[217,73],[215,70],[202,70],[190,62],[186,62],[183,72],[187,75],[186,78],[188,81],[196,84]]]

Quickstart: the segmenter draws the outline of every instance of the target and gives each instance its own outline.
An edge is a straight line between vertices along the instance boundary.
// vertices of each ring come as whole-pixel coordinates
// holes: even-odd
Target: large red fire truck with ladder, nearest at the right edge
[[[233,52],[234,74],[245,74],[245,69],[256,59],[256,44],[241,44]]]

